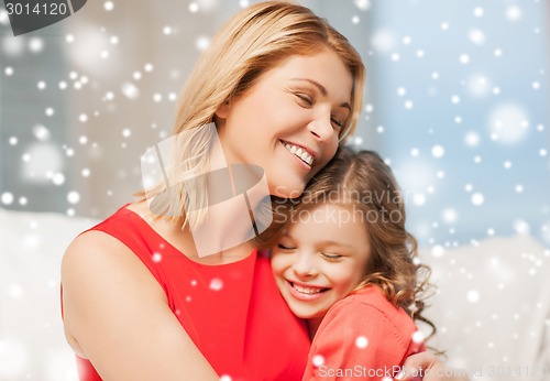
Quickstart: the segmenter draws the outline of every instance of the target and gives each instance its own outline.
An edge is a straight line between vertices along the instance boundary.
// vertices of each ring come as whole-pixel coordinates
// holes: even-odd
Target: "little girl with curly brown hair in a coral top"
[[[389,167],[374,152],[341,149],[292,208],[272,269],[293,313],[308,320],[310,379],[391,380],[424,351],[413,317],[416,241]],[[429,322],[428,322],[429,323]]]

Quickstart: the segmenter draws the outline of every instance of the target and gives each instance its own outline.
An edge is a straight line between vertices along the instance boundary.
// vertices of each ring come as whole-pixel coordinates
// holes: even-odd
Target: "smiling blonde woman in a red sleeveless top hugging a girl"
[[[186,139],[166,176],[213,170],[219,137],[229,167],[262,167],[272,195],[298,196],[354,130],[363,76],[359,54],[309,9],[265,2],[239,12],[182,94],[174,133]],[[208,257],[197,250],[208,190],[160,184],[67,249],[64,324],[82,380],[301,378],[305,325],[253,240]],[[232,232],[233,216],[222,217],[212,241]]]

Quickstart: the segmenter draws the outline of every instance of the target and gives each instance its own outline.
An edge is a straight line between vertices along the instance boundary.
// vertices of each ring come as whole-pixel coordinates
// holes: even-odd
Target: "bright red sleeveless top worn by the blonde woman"
[[[197,263],[127,207],[90,230],[124,243],[164,289],[168,305],[216,372],[239,380],[301,380],[305,323],[280,297],[265,253],[222,265]],[[77,356],[81,381],[101,380]]]

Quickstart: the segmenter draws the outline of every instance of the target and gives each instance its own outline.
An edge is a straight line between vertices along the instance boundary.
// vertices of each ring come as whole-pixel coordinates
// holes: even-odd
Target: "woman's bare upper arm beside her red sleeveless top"
[[[219,380],[161,285],[117,239],[98,231],[75,239],[62,283],[67,339],[103,380]]]

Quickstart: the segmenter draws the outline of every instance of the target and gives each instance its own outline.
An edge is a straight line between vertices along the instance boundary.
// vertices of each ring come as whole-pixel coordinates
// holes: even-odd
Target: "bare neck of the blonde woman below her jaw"
[[[199,221],[188,230],[197,258],[223,257],[228,252],[241,252],[243,247],[251,249],[251,240],[273,220],[263,170],[228,160],[220,142],[215,140],[209,171],[199,176],[206,188],[198,183],[187,189],[206,192],[206,205],[197,210],[186,210],[190,220]],[[270,211],[266,218],[262,210]]]

